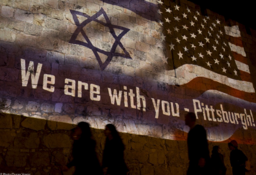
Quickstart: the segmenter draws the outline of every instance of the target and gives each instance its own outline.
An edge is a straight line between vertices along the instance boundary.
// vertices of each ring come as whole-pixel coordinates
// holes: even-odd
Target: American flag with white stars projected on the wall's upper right
[[[184,65],[195,69],[186,82],[178,84],[202,77],[218,84],[212,89],[224,85],[229,95],[253,102],[250,93],[254,88],[238,26],[227,26],[224,20],[203,16],[191,7],[166,6],[161,0],[158,3],[161,38],[166,42],[167,57],[163,62],[169,70]]]

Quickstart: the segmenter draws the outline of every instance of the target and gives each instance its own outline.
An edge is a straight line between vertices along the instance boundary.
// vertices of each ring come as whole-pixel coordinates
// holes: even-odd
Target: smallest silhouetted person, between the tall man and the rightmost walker
[[[211,173],[212,175],[225,175],[227,168],[224,164],[223,155],[219,153],[219,147],[214,146],[211,156]]]

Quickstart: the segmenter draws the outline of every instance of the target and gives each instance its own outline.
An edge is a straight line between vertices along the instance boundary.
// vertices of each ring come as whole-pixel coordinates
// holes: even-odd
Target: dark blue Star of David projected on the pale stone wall
[[[111,24],[110,19],[109,19],[107,13],[104,11],[103,8],[101,8],[97,13],[95,13],[92,16],[89,16],[88,14],[84,14],[82,12],[75,11],[75,10],[70,10],[70,12],[73,16],[73,20],[74,20],[75,24],[77,25],[77,28],[76,28],[75,32],[73,33],[69,43],[82,45],[84,47],[88,47],[88,48],[92,49],[92,51],[93,51],[93,53],[94,53],[94,55],[95,55],[95,57],[96,57],[96,59],[99,63],[101,71],[103,71],[108,66],[108,64],[111,62],[113,57],[124,57],[124,58],[127,58],[127,59],[131,59],[130,54],[126,51],[126,49],[124,48],[123,44],[120,41],[122,39],[122,37],[130,29],[122,27],[122,26],[117,26],[117,25]],[[87,19],[80,23],[79,20],[78,20],[78,15],[87,17]],[[99,17],[100,15],[104,16],[104,18],[106,20],[106,23],[102,22],[102,21],[99,21],[97,19],[97,17]],[[86,32],[83,30],[83,27],[86,26],[87,24],[89,24],[92,21],[95,21],[95,22],[109,28],[110,33],[112,34],[113,38],[115,39],[110,51],[106,51],[106,50],[95,47],[91,43],[91,41],[88,38]],[[117,36],[115,31],[114,31],[115,28],[123,30],[123,31]],[[78,36],[79,33],[82,34],[82,36],[86,40],[86,42],[82,42],[80,40],[77,40],[77,36]],[[118,45],[123,50],[123,54],[122,53],[115,53],[116,47]],[[101,61],[101,59],[99,57],[99,53],[104,54],[104,55],[107,56],[107,60],[105,62]]]

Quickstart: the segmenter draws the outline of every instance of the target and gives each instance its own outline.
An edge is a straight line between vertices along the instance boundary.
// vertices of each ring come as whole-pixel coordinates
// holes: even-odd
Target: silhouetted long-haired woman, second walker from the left
[[[125,146],[112,124],[105,128],[106,144],[103,152],[103,170],[108,175],[126,175],[128,168],[124,161]]]

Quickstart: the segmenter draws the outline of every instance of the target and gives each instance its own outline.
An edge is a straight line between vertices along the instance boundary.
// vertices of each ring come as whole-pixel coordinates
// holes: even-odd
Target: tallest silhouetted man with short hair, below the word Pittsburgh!
[[[195,125],[195,113],[185,115],[185,125],[190,127],[187,135],[187,148],[189,151],[189,169],[187,175],[209,174],[208,164],[210,160],[206,130],[201,125]]]

